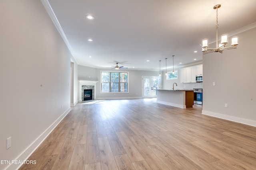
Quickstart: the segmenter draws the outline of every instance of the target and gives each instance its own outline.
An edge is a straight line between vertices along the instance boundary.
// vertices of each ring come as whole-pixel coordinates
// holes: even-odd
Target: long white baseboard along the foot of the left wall
[[[27,160],[29,156],[39,147],[39,145],[48,137],[48,135],[53,131],[53,129],[62,121],[62,119],[71,110],[69,107],[52,125],[50,125],[34,142],[32,142],[15,160]],[[10,164],[5,170],[17,170],[22,164]]]

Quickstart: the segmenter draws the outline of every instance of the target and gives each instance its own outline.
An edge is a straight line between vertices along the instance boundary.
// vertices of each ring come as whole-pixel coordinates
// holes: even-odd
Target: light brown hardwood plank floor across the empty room
[[[96,103],[95,103],[96,102]],[[256,127],[155,99],[80,102],[25,170],[255,170]]]

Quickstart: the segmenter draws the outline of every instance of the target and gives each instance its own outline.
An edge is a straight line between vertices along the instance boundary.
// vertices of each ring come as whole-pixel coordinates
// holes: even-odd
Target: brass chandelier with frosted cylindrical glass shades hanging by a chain
[[[224,34],[221,36],[220,44],[218,45],[218,8],[220,8],[220,4],[215,5],[213,7],[216,10],[216,48],[208,48],[208,39],[203,39],[202,41],[202,52],[203,54],[212,53],[212,52],[220,52],[226,49],[236,49],[238,46],[238,37],[232,37],[231,46],[226,47],[228,43],[228,34]]]

